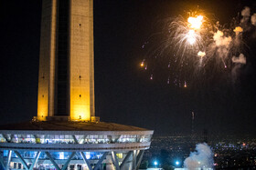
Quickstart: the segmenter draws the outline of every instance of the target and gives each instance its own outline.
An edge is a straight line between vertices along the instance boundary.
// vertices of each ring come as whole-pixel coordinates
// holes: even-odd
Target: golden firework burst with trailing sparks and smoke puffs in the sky
[[[242,15],[241,22],[246,18],[249,16]],[[255,18],[251,15],[251,25],[256,23]],[[203,14],[179,15],[165,22],[163,30],[156,34],[161,35],[161,40],[158,40],[161,43],[157,47],[149,47],[141,66],[149,70],[151,80],[155,68],[163,67],[168,70],[167,84],[187,87],[195,75],[227,72],[234,65],[245,65],[243,33],[244,26],[238,19],[228,27],[210,21]]]

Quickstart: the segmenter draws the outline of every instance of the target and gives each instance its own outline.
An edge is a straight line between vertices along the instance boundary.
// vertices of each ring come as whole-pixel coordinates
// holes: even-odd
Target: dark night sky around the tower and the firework
[[[190,133],[194,111],[198,134],[208,129],[209,134],[255,135],[253,41],[248,42],[251,60],[241,68],[236,84],[230,83],[228,73],[226,78],[202,75],[204,83],[179,88],[166,84],[165,70],[156,70],[151,81],[150,74],[140,68],[146,50],[142,45],[166,18],[183,15],[199,5],[224,24],[245,5],[256,12],[252,2],[94,0],[96,115],[105,122],[177,135]],[[40,0],[0,2],[0,124],[31,120],[37,115],[40,16]]]

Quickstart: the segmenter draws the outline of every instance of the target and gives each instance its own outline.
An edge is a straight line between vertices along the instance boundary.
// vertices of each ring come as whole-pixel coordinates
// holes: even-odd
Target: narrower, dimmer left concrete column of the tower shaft
[[[57,0],[42,3],[37,119],[54,115]]]

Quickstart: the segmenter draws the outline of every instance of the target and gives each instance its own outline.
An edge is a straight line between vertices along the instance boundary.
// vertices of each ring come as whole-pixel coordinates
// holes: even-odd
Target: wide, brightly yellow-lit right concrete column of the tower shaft
[[[93,1],[70,0],[70,119],[94,116]]]

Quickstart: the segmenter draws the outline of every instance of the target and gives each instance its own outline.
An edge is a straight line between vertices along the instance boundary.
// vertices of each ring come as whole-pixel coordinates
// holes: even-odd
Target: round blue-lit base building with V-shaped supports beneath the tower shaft
[[[0,169],[5,170],[134,170],[153,135],[102,122],[27,122],[0,128]]]

